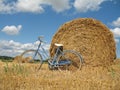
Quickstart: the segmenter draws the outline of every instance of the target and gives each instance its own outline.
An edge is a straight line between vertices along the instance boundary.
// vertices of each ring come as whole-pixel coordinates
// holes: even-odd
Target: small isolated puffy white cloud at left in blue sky
[[[17,27],[11,25],[11,26],[5,26],[1,31],[5,32],[8,35],[17,35],[19,34],[21,29],[22,29],[22,25],[18,25]]]

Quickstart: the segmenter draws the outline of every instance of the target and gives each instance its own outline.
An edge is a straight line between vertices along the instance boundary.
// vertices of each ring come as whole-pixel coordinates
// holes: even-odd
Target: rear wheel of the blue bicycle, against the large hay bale
[[[69,70],[69,71],[76,71],[80,70],[83,63],[82,56],[74,51],[74,50],[64,50],[61,52],[61,54],[58,56],[58,63],[62,60],[69,60],[70,64],[60,65],[58,67],[59,70]]]

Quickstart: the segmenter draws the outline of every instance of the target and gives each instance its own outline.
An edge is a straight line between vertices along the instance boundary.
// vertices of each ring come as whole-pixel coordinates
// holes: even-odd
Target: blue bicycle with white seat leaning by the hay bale
[[[74,50],[63,50],[63,44],[55,43],[54,45],[57,47],[55,54],[53,57],[50,57],[41,45],[44,43],[42,39],[43,37],[41,36],[38,38],[39,45],[36,50],[26,50],[21,54],[21,57],[30,57],[29,62],[39,61],[40,66],[38,69],[40,69],[42,67],[42,64],[46,61],[50,70],[75,71],[81,69],[84,61],[80,53]],[[44,60],[46,57],[48,59]]]

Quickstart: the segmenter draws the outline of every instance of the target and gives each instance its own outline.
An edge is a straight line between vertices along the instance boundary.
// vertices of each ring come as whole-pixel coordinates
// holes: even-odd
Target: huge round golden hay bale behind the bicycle
[[[54,43],[63,44],[64,49],[78,51],[85,63],[92,66],[110,65],[116,58],[113,33],[92,18],[78,18],[63,24],[52,38],[51,57],[54,55]]]

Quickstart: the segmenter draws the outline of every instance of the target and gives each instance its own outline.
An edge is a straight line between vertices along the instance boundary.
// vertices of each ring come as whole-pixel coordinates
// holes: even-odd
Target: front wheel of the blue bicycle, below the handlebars
[[[42,62],[42,56],[37,50],[26,50],[21,54],[22,60],[20,63],[40,63],[40,66],[38,69],[41,68],[43,62]]]

